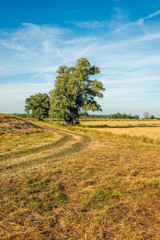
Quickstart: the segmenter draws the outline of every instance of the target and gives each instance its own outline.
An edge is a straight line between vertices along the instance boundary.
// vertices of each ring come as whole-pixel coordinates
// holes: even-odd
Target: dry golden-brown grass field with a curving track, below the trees
[[[0,132],[0,239],[160,239],[160,121],[1,114]]]

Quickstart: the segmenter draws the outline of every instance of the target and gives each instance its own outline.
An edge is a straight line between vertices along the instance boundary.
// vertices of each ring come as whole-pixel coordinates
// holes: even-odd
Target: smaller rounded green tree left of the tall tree
[[[25,112],[39,121],[49,116],[50,101],[46,93],[37,93],[26,98]]]

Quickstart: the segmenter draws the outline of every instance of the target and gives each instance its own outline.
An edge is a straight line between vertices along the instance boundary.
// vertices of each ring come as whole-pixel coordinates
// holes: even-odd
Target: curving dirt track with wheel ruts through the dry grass
[[[19,175],[20,177],[24,172],[32,169],[48,168],[49,164],[54,164],[58,159],[66,155],[76,154],[82,148],[87,147],[90,141],[90,137],[81,134],[55,129],[50,126],[43,126],[43,128],[53,131],[60,136],[60,139],[54,141],[49,146],[47,145],[46,149],[45,146],[34,148],[31,154],[27,154],[24,150],[22,156],[1,158],[1,181],[6,180],[6,175],[10,177]]]

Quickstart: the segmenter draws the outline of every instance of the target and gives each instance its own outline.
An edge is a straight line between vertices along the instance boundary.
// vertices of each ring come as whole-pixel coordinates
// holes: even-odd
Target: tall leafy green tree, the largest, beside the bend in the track
[[[102,82],[92,80],[100,73],[87,58],[77,60],[75,66],[60,66],[54,89],[50,92],[51,114],[62,117],[68,125],[79,122],[82,110],[102,111],[95,97],[102,98],[105,90]]]

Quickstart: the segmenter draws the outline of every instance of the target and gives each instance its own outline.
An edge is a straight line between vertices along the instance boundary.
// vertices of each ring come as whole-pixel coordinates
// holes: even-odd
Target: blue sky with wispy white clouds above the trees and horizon
[[[0,112],[23,113],[80,57],[101,69],[103,114],[160,117],[160,0],[1,0]]]

